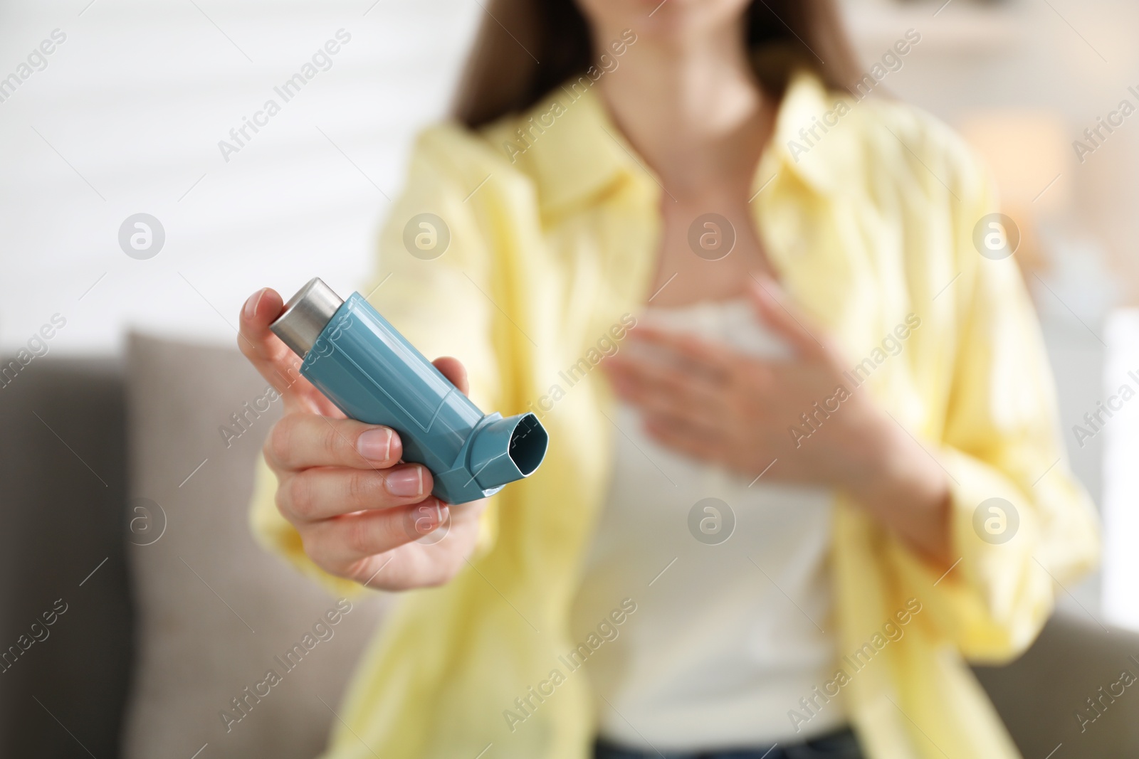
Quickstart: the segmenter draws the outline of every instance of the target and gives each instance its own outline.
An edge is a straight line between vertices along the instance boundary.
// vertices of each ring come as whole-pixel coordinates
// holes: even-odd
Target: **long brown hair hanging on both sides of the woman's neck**
[[[760,82],[777,97],[789,61],[813,68],[831,89],[845,90],[857,77],[858,65],[833,0],[753,0],[747,44]],[[772,51],[779,55],[765,55]],[[765,57],[773,65],[761,66]],[[574,0],[492,0],[452,115],[477,127],[525,110],[596,63],[589,24]]]

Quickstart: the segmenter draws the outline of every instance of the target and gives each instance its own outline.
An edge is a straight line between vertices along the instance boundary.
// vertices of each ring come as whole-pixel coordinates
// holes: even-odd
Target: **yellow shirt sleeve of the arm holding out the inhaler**
[[[458,126],[424,131],[412,150],[403,193],[380,233],[375,274],[361,289],[425,356],[461,361],[470,398],[484,412],[498,406],[501,388],[495,331],[500,325],[493,317],[494,298],[501,296],[484,231],[500,207],[499,191],[487,181],[494,160],[476,135]],[[478,187],[480,182],[485,185]],[[359,592],[361,586],[328,575],[308,558],[300,534],[277,509],[276,492],[276,476],[260,459],[249,511],[259,543],[334,594]],[[482,520],[480,551],[492,543],[494,521],[492,504]]]

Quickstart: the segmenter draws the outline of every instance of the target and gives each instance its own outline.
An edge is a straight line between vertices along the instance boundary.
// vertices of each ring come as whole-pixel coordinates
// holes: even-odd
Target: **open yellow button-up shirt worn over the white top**
[[[805,140],[800,130],[827,112],[838,124]],[[871,759],[1016,757],[966,660],[1023,652],[1052,609],[1054,585],[1095,563],[1098,534],[1063,459],[1017,265],[974,247],[974,226],[995,209],[988,178],[929,116],[828,93],[801,73],[752,191],[790,297],[837,337],[852,370],[871,362],[861,364],[867,387],[952,484],[960,561],[943,577],[838,497],[835,622],[839,652],[857,655],[836,662],[842,683],[820,687],[842,693]],[[609,477],[613,397],[600,371],[573,385],[559,372],[591,365],[599,339],[646,303],[661,197],[592,92],[557,91],[480,133],[442,124],[420,135],[371,302],[427,356],[458,356],[484,411],[539,413],[550,447],[533,477],[492,498],[470,566],[443,587],[402,595],[338,709],[329,759],[589,756],[598,707],[588,667],[570,671],[559,655],[580,643],[568,616]],[[433,261],[404,247],[420,213],[450,230]],[[920,325],[890,355],[883,343],[910,314]],[[262,465],[259,537],[336,592],[354,587],[306,559],[274,489]],[[994,497],[1018,517],[1005,543],[981,537],[991,512],[975,521]],[[650,579],[614,588],[614,607],[636,602]]]

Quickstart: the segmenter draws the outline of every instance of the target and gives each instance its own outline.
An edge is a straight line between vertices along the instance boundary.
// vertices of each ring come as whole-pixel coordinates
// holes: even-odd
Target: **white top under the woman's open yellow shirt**
[[[641,323],[787,356],[745,299],[650,308]],[[599,696],[601,736],[649,752],[698,751],[803,741],[845,724],[841,696],[801,732],[788,717],[809,713],[800,699],[821,690],[837,661],[830,490],[753,482],[770,462],[737,475],[667,449],[626,404],[613,421],[613,481],[572,625],[577,644],[623,599],[637,604],[583,670]],[[710,497],[729,508],[705,502]]]

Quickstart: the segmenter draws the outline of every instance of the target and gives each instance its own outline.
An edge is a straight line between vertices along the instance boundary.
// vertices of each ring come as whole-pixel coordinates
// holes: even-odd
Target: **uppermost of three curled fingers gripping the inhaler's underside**
[[[273,424],[264,454],[277,472],[310,467],[386,469],[403,456],[403,443],[387,427],[297,412]]]

